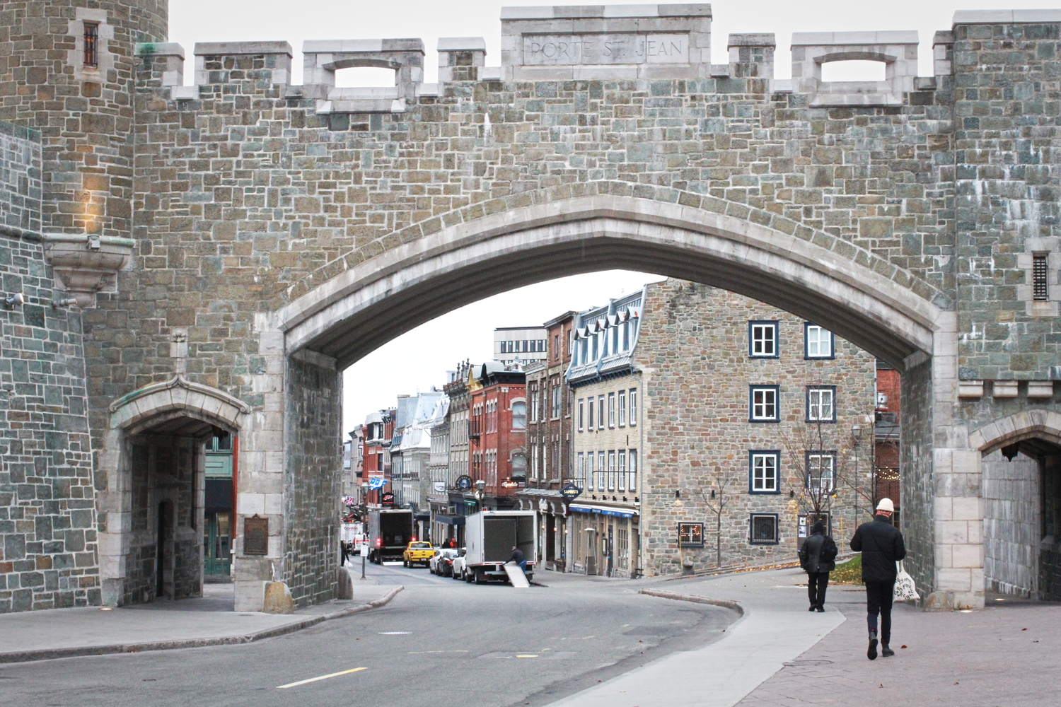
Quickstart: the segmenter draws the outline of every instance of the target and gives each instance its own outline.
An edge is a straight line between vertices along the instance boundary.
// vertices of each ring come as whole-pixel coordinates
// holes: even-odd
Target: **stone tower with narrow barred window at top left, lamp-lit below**
[[[168,0],[16,0],[0,10],[0,121],[41,137],[40,230],[129,237],[136,43]]]

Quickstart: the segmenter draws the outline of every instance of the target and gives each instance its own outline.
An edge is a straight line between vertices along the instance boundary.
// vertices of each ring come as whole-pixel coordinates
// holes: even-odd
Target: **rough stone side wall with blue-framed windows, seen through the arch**
[[[748,322],[752,320],[780,322],[778,358],[748,356]],[[682,560],[692,562],[692,571],[716,566],[716,516],[709,508],[712,489],[716,494],[725,489],[727,499],[721,514],[724,566],[796,558],[798,515],[810,510],[802,499],[804,485],[799,476],[802,442],[807,434],[817,435],[817,426],[805,422],[808,385],[836,386],[836,423],[821,426],[824,444],[818,447],[840,453],[837,466],[848,480],[837,483],[838,494],[830,509],[836,544],[843,548],[855,525],[869,519],[869,500],[854,489],[857,479],[863,492],[869,492],[869,448],[864,445],[862,466],[856,467],[851,427],[856,423],[869,427],[875,359],[837,338],[835,359],[807,360],[803,338],[802,319],[746,297],[673,279],[647,286],[634,357],[644,376],[647,457],[641,499],[643,562],[648,575],[682,571],[679,523],[705,524],[705,547],[682,549]],[[748,422],[750,384],[780,386],[780,423]],[[779,494],[749,493],[751,449],[782,450]],[[675,503],[675,491],[681,492],[680,506]],[[780,516],[780,544],[749,543],[751,513]]]

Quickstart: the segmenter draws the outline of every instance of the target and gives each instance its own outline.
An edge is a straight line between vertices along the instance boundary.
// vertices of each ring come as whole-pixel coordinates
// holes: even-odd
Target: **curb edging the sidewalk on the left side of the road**
[[[114,655],[116,653],[141,653],[144,651],[173,651],[181,648],[205,648],[207,646],[234,646],[238,643],[253,643],[256,640],[282,636],[295,633],[302,629],[309,629],[323,621],[341,619],[345,616],[361,614],[372,608],[385,606],[395,596],[404,589],[404,586],[397,586],[379,599],[375,599],[367,604],[341,608],[329,614],[314,616],[297,623],[289,623],[275,629],[266,629],[253,634],[242,636],[218,636],[215,638],[185,638],[180,640],[159,640],[144,643],[112,643],[110,646],[76,646],[73,648],[40,649],[37,651],[17,651],[13,653],[0,653],[0,664],[5,662],[28,662],[30,660],[54,660],[55,658],[75,658],[86,655]]]

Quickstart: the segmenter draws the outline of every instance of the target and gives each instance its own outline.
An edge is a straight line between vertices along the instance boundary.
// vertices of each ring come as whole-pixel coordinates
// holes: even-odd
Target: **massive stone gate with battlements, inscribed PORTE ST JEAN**
[[[500,66],[439,40],[438,84],[420,40],[358,39],[307,42],[301,86],[286,42],[198,43],[185,86],[164,0],[83,4],[0,10],[0,268],[25,299],[0,315],[0,611],[194,594],[179,541],[214,429],[240,438],[237,608],[267,581],[335,596],[342,369],[468,302],[614,267],[899,367],[922,594],[1056,591],[1061,11],[957,13],[933,76],[911,32],[797,34],[777,79],[769,34],[711,64],[710,5],[588,5],[505,8]],[[821,81],[848,59],[886,79]],[[335,87],[358,66],[395,86]],[[191,456],[159,471],[144,448]],[[999,449],[1033,469],[992,476],[986,503]],[[995,537],[986,563],[985,527],[1016,532],[997,516],[1037,495],[1039,536]],[[153,528],[168,580],[143,570]]]

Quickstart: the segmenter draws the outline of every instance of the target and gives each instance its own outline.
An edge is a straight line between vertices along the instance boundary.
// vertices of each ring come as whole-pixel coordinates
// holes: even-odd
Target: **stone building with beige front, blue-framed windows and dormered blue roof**
[[[808,497],[825,496],[819,510],[838,536],[865,512],[871,476],[851,436],[872,420],[869,354],[776,307],[673,279],[580,313],[574,340],[573,571],[689,572],[718,553],[723,566],[788,561]]]

